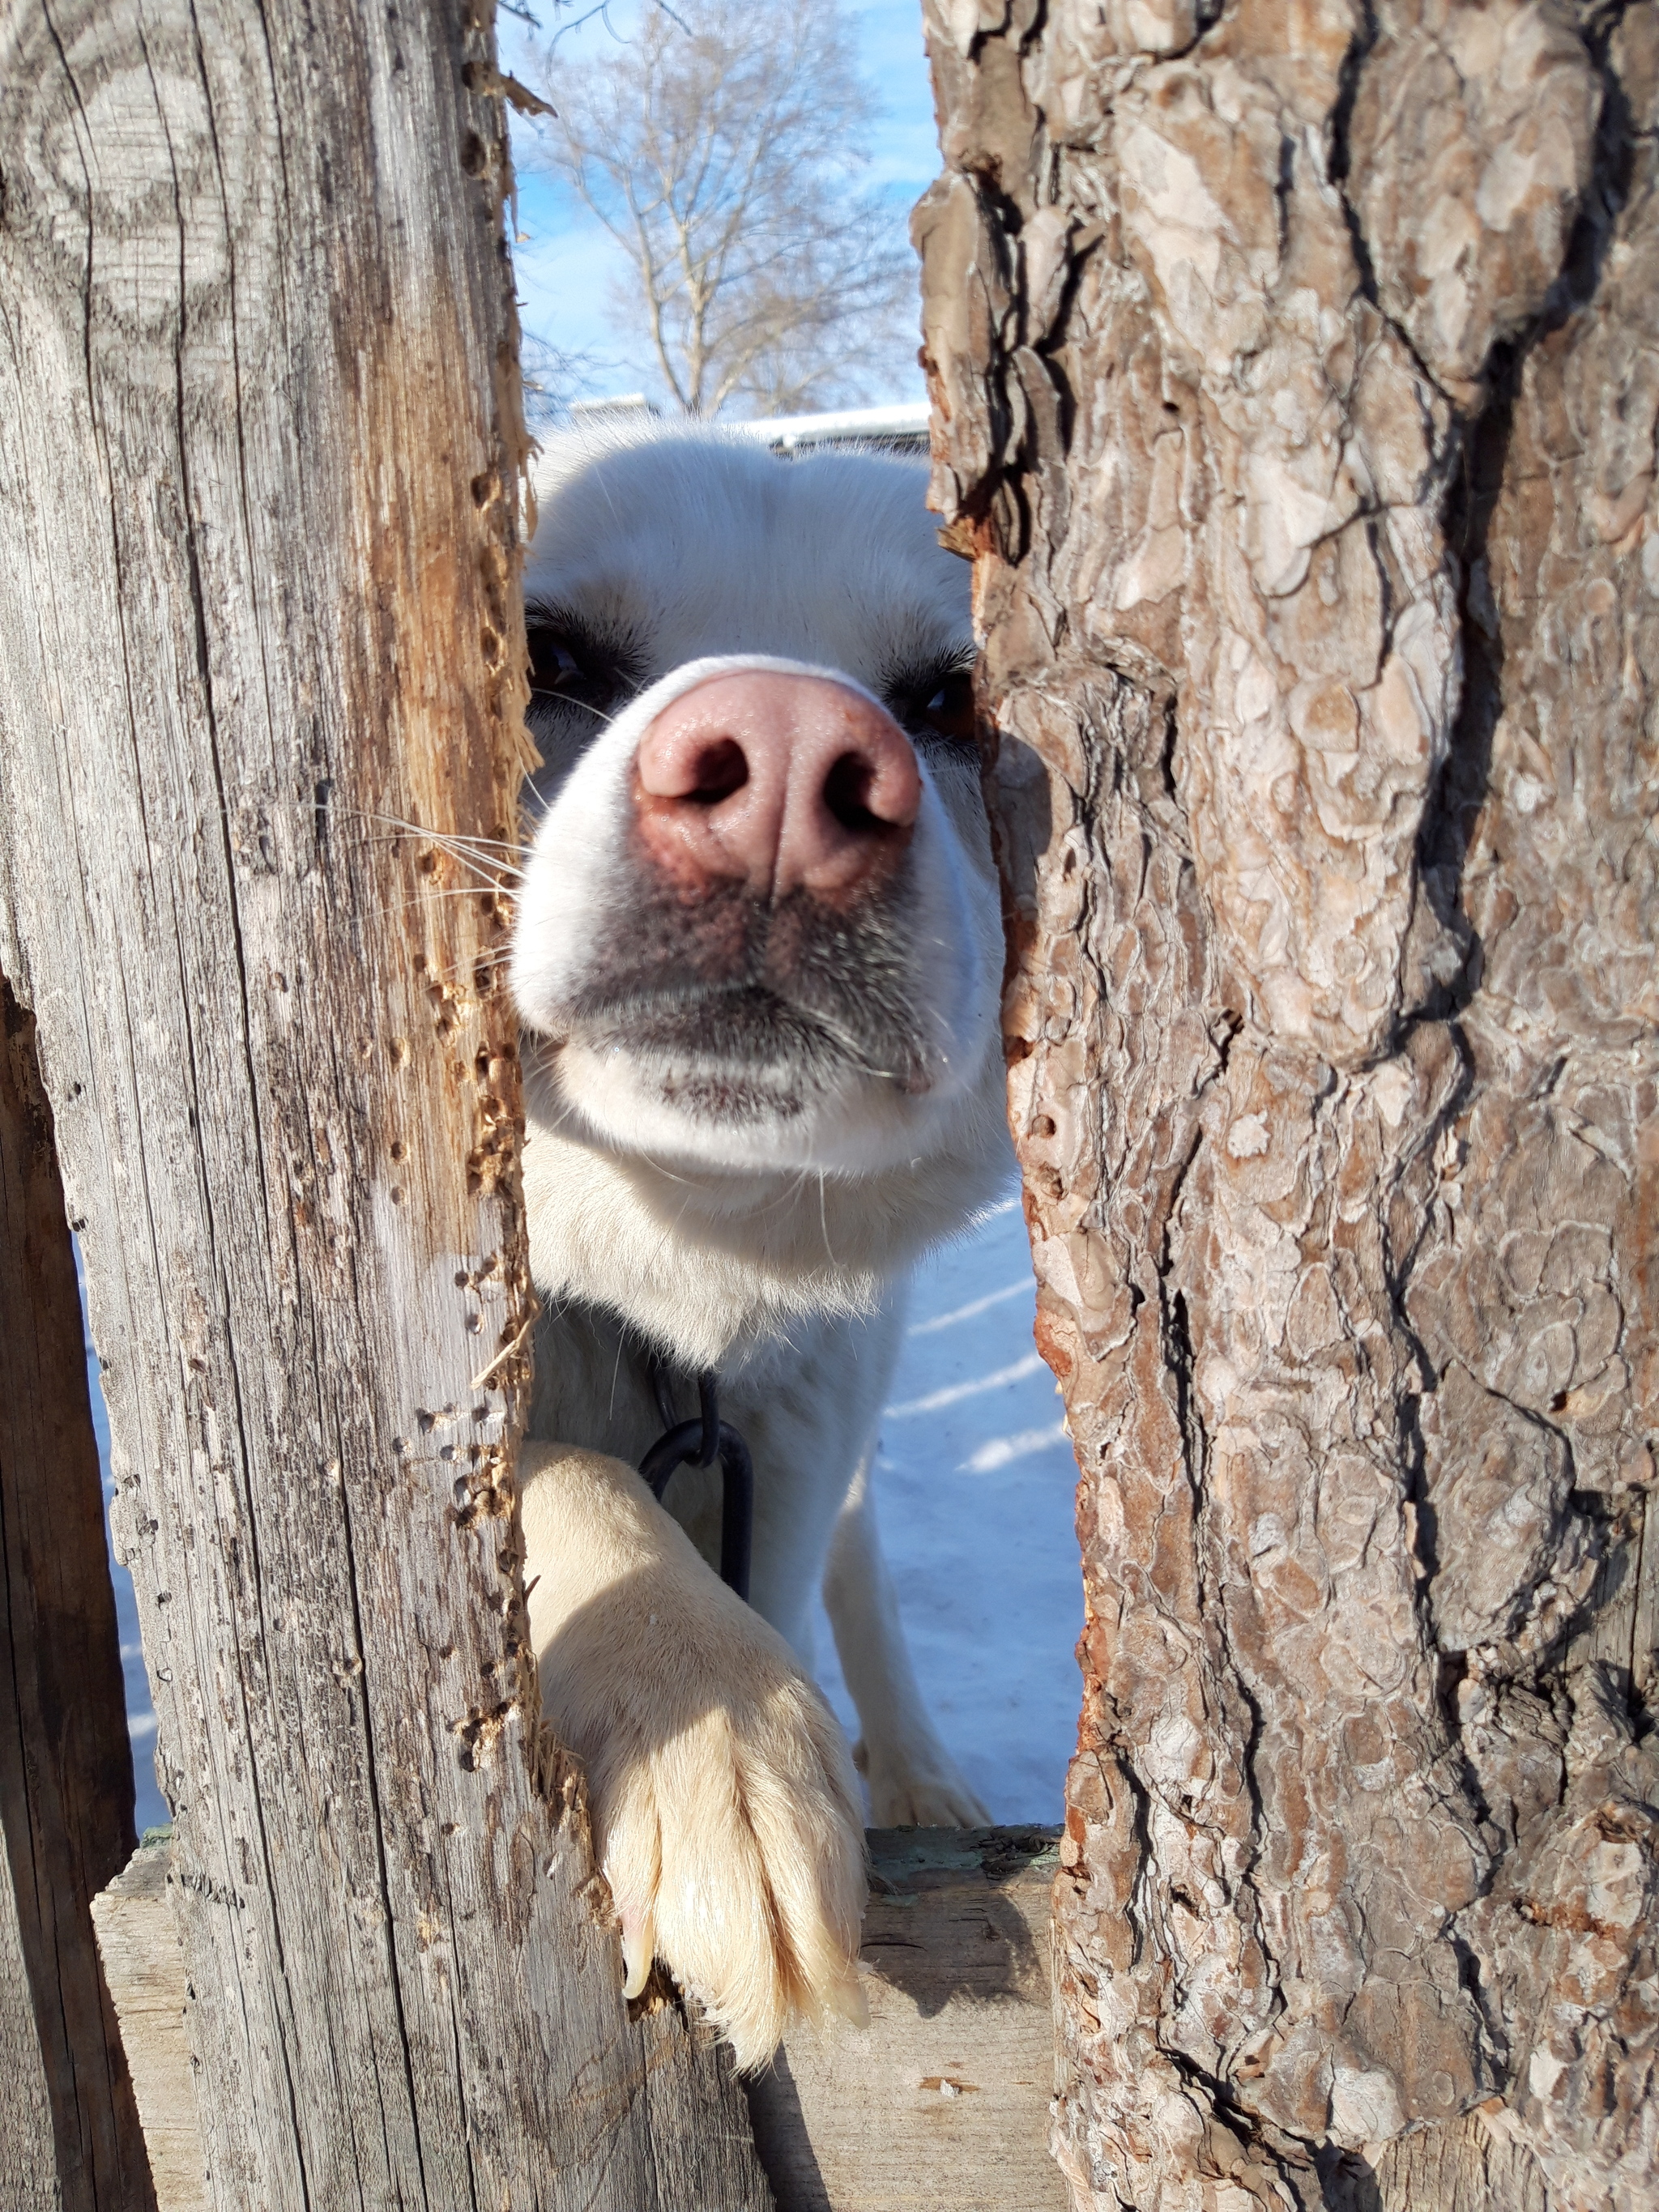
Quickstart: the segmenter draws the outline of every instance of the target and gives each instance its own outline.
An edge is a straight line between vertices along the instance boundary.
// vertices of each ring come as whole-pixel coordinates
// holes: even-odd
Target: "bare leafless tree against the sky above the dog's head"
[[[856,400],[909,354],[914,261],[863,181],[849,53],[836,0],[692,0],[599,60],[542,55],[542,159],[628,254],[617,305],[686,414]]]

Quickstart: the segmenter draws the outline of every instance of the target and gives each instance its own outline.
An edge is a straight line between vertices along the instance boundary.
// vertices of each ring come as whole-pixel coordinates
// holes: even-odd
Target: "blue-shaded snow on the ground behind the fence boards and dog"
[[[1075,1467],[1053,1380],[1031,1349],[1031,1254],[1009,1199],[918,1270],[876,1453],[876,1513],[916,1672],[993,1820],[1060,1820],[1077,1732]],[[108,1504],[108,1425],[91,1347],[86,1367]],[[168,1812],[150,1772],[155,1714],[133,1579],[113,1573],[144,1832]],[[823,1608],[816,1661],[856,1734]]]

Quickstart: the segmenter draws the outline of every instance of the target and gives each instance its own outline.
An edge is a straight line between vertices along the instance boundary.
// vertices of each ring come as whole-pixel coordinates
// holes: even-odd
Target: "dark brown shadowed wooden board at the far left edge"
[[[139,2212],[91,1900],[133,1849],[75,1254],[35,1024],[0,975],[0,2203]]]

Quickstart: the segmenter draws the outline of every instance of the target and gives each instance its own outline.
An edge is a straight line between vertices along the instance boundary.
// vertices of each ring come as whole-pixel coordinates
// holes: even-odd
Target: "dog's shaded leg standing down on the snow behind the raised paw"
[[[841,1672],[865,1730],[854,1759],[869,1781],[869,1812],[876,1827],[984,1827],[991,1814],[933,1732],[905,1648],[898,1593],[876,1535],[874,1455],[872,1444],[852,1478],[823,1571]]]

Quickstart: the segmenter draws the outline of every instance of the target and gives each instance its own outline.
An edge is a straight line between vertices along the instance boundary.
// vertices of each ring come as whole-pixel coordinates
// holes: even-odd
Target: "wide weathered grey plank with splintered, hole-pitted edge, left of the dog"
[[[524,1632],[507,918],[442,843],[526,763],[498,93],[471,4],[0,13],[0,949],[223,2212],[650,2212],[692,2141],[768,2201],[626,2017]]]

